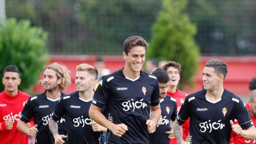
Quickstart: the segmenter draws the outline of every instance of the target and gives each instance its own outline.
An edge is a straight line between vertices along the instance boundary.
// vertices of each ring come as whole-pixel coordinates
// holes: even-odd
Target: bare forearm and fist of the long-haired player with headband
[[[37,125],[30,127],[26,122],[19,120],[17,123],[17,129],[23,134],[27,134],[29,136],[35,136],[35,133],[38,132]]]

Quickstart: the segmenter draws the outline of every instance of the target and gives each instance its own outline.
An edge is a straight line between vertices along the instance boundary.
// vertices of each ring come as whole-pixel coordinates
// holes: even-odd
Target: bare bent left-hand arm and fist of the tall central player
[[[128,130],[125,124],[113,124],[112,122],[108,121],[100,111],[101,108],[91,104],[89,109],[89,117],[99,125],[109,129],[115,136],[121,137],[123,134],[125,134],[125,131]]]

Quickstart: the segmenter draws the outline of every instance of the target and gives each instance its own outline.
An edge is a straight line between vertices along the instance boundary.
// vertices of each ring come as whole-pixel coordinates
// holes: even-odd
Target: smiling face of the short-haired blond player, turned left
[[[94,78],[87,71],[77,71],[75,83],[77,91],[84,93],[90,86],[94,86]]]

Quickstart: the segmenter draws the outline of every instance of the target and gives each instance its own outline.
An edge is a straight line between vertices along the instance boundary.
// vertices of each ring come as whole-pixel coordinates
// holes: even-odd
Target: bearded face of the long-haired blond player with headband
[[[58,79],[57,74],[54,70],[45,70],[43,78],[43,87],[45,90],[53,92],[57,89],[58,84],[60,84],[60,81],[61,80]]]

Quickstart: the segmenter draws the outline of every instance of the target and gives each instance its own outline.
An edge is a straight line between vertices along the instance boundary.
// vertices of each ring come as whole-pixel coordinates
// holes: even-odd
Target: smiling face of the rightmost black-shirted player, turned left
[[[205,67],[203,70],[202,80],[205,90],[214,90],[219,84],[219,76],[214,71],[212,67]]]

